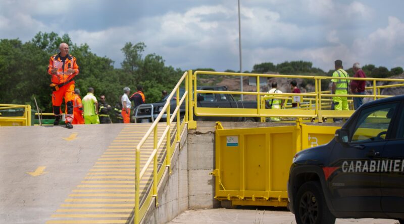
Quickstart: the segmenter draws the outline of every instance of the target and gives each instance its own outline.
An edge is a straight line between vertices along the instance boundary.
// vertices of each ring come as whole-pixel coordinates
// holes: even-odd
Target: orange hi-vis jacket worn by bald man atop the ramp
[[[51,70],[53,68],[58,68],[56,74],[53,74]],[[67,70],[69,68],[74,69],[74,72],[69,74]],[[60,53],[55,54],[49,59],[49,65],[47,68],[47,73],[52,75],[52,83],[60,85],[69,82],[79,73],[79,66],[76,63],[76,58],[68,54],[66,61],[60,59]]]

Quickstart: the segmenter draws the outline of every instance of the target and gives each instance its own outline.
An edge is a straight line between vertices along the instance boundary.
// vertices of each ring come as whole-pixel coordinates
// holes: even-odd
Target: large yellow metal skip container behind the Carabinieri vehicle
[[[329,142],[339,127],[295,126],[223,129],[216,124],[218,200],[232,205],[287,205],[287,179],[298,151]]]

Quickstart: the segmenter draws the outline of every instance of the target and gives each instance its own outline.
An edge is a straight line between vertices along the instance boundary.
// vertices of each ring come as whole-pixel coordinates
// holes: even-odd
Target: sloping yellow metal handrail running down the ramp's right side
[[[192,88],[189,88],[189,78],[191,79],[190,81],[192,81],[192,77],[190,77],[188,75],[188,72],[186,71],[183,76],[181,77],[181,79],[179,80],[179,82],[177,83],[177,85],[174,87],[173,91],[170,93],[170,95],[168,96],[167,100],[166,100],[166,104],[164,105],[163,109],[161,110],[160,114],[157,116],[157,118],[155,119],[155,121],[153,122],[153,124],[151,124],[150,128],[147,130],[147,132],[145,133],[145,135],[143,136],[143,138],[140,140],[140,142],[137,144],[136,146],[136,171],[135,171],[135,210],[134,210],[134,223],[139,223],[139,221],[141,220],[141,218],[144,216],[146,209],[151,201],[152,197],[155,197],[156,200],[156,206],[158,205],[158,195],[157,195],[157,185],[159,184],[161,178],[162,178],[162,174],[164,172],[165,169],[160,169],[158,170],[158,164],[157,164],[157,155],[158,155],[158,149],[163,145],[164,140],[166,140],[166,157],[165,157],[165,166],[169,169],[169,174],[171,174],[171,156],[173,154],[173,149],[175,148],[175,145],[177,142],[180,141],[180,134],[182,132],[182,130],[185,127],[185,123],[189,123],[188,122],[188,111],[192,111],[192,108],[189,107],[189,90],[191,90]],[[184,82],[185,81],[185,82]],[[185,92],[184,95],[182,96],[182,98],[180,99],[180,85],[184,82],[185,85]],[[171,117],[171,99],[173,98],[173,96],[176,96],[176,107],[175,110],[173,111],[173,116]],[[190,98],[192,99],[192,98]],[[185,102],[184,102],[185,101]],[[180,120],[180,106],[185,103],[185,116],[181,122]],[[188,108],[189,107],[189,108]],[[167,114],[167,121],[166,121],[166,127],[164,129],[164,132],[162,134],[162,136],[158,139],[157,136],[157,126],[159,124],[159,121],[161,120],[162,116],[164,115],[164,113]],[[191,116],[191,121],[192,121],[192,116]],[[173,144],[171,144],[171,130],[173,128],[173,124],[174,124],[174,119],[176,119],[175,121],[175,131],[176,134],[174,136],[174,142]],[[192,123],[192,122],[191,122]],[[145,141],[148,139],[148,137],[150,137],[150,135],[153,133],[153,152],[151,153],[151,155],[148,157],[146,164],[144,165],[143,168],[141,168],[140,170],[140,153],[141,153],[141,148],[143,146],[143,144],[145,143]],[[153,162],[153,187],[151,188],[150,192],[146,192],[146,199],[143,201],[143,204],[140,204],[140,180],[142,179],[142,177],[144,176],[146,170],[148,169],[148,167],[151,165],[151,163]]]

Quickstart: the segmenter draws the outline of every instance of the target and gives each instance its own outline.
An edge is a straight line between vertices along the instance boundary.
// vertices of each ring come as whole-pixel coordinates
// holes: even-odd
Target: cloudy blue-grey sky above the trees
[[[404,67],[402,0],[240,0],[243,70],[256,63],[342,59]],[[237,0],[0,1],[0,39],[67,33],[99,56],[123,60],[126,42],[144,42],[167,65],[239,69]]]

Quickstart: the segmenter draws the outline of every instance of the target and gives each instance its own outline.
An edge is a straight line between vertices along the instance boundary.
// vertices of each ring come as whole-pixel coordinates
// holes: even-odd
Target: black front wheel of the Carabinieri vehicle
[[[297,224],[334,224],[318,182],[310,181],[297,191],[294,206],[294,217]]]

